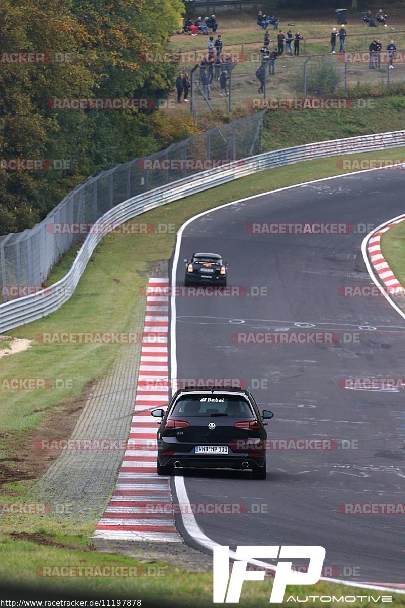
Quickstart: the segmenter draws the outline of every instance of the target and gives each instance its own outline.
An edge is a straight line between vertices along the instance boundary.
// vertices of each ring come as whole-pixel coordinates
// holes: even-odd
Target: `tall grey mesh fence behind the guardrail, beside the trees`
[[[0,241],[1,300],[39,291],[50,269],[118,203],[211,167],[262,151],[264,112],[189,137],[151,156],[99,173],[79,185],[35,227]],[[162,193],[163,199],[164,193]],[[112,226],[97,226],[109,232]]]

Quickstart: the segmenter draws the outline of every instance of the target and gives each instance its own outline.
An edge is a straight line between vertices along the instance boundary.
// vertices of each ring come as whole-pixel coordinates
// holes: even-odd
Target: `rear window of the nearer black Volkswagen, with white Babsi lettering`
[[[248,402],[237,395],[183,395],[175,404],[169,417],[219,414],[253,418]]]

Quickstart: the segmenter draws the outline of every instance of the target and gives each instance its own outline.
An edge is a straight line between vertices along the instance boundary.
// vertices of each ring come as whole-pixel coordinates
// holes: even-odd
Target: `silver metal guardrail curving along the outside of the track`
[[[258,154],[241,161],[235,161],[234,166],[225,170],[202,171],[192,177],[180,179],[142,195],[129,198],[104,213],[98,219],[98,223],[117,226],[160,205],[185,198],[197,192],[203,192],[203,190],[208,190],[220,184],[226,184],[234,179],[257,173],[257,171],[338,154],[362,153],[400,146],[405,146],[405,131],[308,143],[294,148]],[[69,300],[101,238],[103,238],[102,233],[90,232],[87,235],[72,264],[72,268],[58,283],[36,294],[27,295],[0,305],[0,333],[44,317]]]

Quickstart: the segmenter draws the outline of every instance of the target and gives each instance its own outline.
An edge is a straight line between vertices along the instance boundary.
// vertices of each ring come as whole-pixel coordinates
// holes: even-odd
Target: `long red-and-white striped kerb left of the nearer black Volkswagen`
[[[169,477],[157,476],[157,423],[152,409],[168,403],[168,279],[151,278],[146,299],[135,412],[114,494],[94,536],[183,542],[175,531]]]

